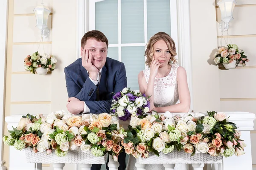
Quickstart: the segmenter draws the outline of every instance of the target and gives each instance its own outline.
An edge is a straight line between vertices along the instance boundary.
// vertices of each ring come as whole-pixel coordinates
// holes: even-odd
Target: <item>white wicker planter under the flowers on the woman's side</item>
[[[178,152],[177,150],[172,151],[171,153],[164,154],[160,153],[160,156],[154,154],[149,154],[147,159],[138,158],[140,164],[202,164],[202,163],[221,163],[222,156],[209,156],[207,153],[196,153],[194,156],[191,154],[185,153],[183,150]]]

